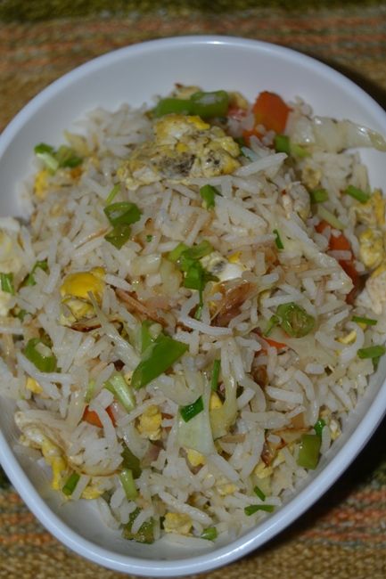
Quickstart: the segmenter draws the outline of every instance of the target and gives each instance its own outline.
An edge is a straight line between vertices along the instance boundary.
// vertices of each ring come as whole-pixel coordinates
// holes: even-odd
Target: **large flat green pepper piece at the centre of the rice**
[[[160,334],[152,346],[144,352],[143,359],[133,373],[131,386],[136,389],[146,386],[167,371],[188,349],[187,344]]]

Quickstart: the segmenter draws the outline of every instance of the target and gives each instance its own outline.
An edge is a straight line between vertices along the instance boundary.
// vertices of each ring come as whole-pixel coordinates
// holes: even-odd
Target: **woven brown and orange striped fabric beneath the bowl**
[[[341,70],[386,106],[386,2],[0,0],[0,130],[55,78],[143,40],[226,34],[290,46]],[[315,507],[272,542],[205,579],[384,579],[385,427]],[[37,523],[0,470],[0,579],[119,579]]]

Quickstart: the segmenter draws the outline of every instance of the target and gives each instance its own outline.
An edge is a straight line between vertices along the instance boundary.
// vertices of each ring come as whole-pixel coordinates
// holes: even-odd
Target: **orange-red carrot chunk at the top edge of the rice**
[[[280,135],[285,130],[291,109],[278,94],[264,91],[259,94],[252,110],[255,125],[263,125],[267,131],[275,131]]]

